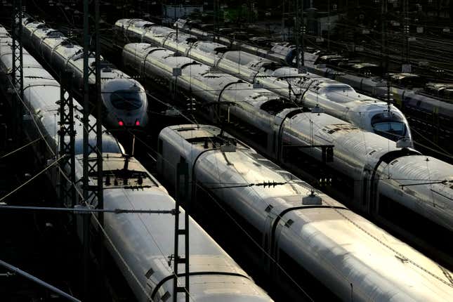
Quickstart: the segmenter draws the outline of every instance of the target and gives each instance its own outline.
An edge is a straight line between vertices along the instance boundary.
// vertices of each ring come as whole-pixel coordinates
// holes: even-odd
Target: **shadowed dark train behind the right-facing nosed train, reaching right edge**
[[[214,39],[213,34],[193,27],[188,20],[180,19],[175,23],[176,25],[178,25],[179,30],[192,34],[199,39]],[[228,37],[216,37],[215,41],[277,63],[289,66],[296,65],[296,46],[288,42],[272,43],[268,47],[257,47]],[[357,91],[367,94],[367,96],[387,100],[386,80],[379,76],[372,76],[370,68],[373,67],[371,64],[353,64],[350,66],[350,70],[344,70],[344,68],[335,70],[332,69],[332,66],[341,65],[347,59],[341,57],[341,55],[315,50],[306,51],[304,58],[308,72],[348,84]],[[444,153],[453,153],[452,84],[428,83],[420,85],[418,83],[417,85],[413,83],[414,77],[411,74],[394,74],[391,77],[393,79],[390,97],[396,107],[405,114],[411,128],[418,132],[419,140],[425,145],[435,147],[436,150],[441,148]],[[411,81],[409,84],[405,84],[404,81],[408,77],[411,78]],[[440,148],[438,145],[440,145]]]

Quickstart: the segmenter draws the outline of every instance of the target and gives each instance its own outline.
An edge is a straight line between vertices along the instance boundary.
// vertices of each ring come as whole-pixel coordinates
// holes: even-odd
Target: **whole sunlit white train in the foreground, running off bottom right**
[[[453,295],[448,270],[221,129],[169,126],[158,145],[159,173],[174,186],[169,163],[187,162],[194,204],[207,208],[224,232],[231,230],[219,208],[232,214],[254,240],[235,232],[241,254],[285,292],[303,297],[301,286],[315,301],[448,301]],[[221,206],[199,197],[204,192]]]

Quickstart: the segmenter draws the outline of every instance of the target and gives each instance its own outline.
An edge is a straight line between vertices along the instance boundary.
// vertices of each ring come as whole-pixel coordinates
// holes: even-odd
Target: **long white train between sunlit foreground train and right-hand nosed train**
[[[228,119],[229,129],[268,157],[304,176],[329,179],[329,188],[362,211],[380,215],[395,209],[393,215],[407,218],[405,227],[409,221],[418,228],[433,223],[440,228],[438,237],[453,232],[451,164],[327,114],[303,112],[275,93],[173,54],[149,44],[127,44],[123,61],[150,83],[158,80],[167,91],[179,91],[184,101],[195,97],[200,114],[211,122]],[[174,76],[177,68],[180,75]],[[327,147],[333,147],[333,162],[324,160]]]

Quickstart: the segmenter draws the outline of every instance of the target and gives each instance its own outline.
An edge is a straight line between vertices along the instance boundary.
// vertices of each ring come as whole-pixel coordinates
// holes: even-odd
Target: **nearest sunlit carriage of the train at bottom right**
[[[317,276],[334,284],[343,301],[351,296],[353,301],[448,301],[451,296],[451,283],[442,279],[445,269],[352,211],[298,210],[284,216],[289,219],[295,221],[291,228],[284,221],[279,225],[280,249],[310,266],[321,262]]]

